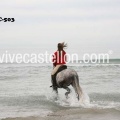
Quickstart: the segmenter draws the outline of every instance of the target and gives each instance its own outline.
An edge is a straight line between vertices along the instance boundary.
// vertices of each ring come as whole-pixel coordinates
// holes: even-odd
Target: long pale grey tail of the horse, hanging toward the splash
[[[75,92],[78,95],[78,100],[80,100],[80,102],[83,103],[83,91],[82,91],[82,88],[79,85],[79,77],[78,77],[78,75],[76,75],[74,77],[73,87],[75,89]]]

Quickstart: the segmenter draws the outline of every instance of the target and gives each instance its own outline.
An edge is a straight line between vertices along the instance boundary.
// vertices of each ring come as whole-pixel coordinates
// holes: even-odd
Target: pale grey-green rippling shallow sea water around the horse
[[[52,69],[49,64],[1,64],[0,119],[42,117],[65,110],[120,113],[120,64],[69,64],[68,67],[78,72],[84,104],[77,101],[72,87],[69,99],[63,89],[59,89],[56,99],[49,87]]]

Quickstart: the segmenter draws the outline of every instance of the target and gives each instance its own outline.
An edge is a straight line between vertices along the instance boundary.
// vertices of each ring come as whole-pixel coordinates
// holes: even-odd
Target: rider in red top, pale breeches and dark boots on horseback
[[[52,87],[55,90],[56,89],[56,76],[55,73],[59,69],[60,66],[66,64],[66,52],[64,51],[64,48],[67,47],[67,44],[58,43],[57,45],[58,50],[53,55],[53,70],[51,72],[51,79],[52,79]]]

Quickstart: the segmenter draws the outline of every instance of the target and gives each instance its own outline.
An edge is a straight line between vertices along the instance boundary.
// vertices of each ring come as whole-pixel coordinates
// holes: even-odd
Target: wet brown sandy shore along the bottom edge
[[[69,109],[61,110],[47,116],[31,116],[6,118],[2,120],[120,120],[120,112],[112,110],[95,110],[95,109]]]

